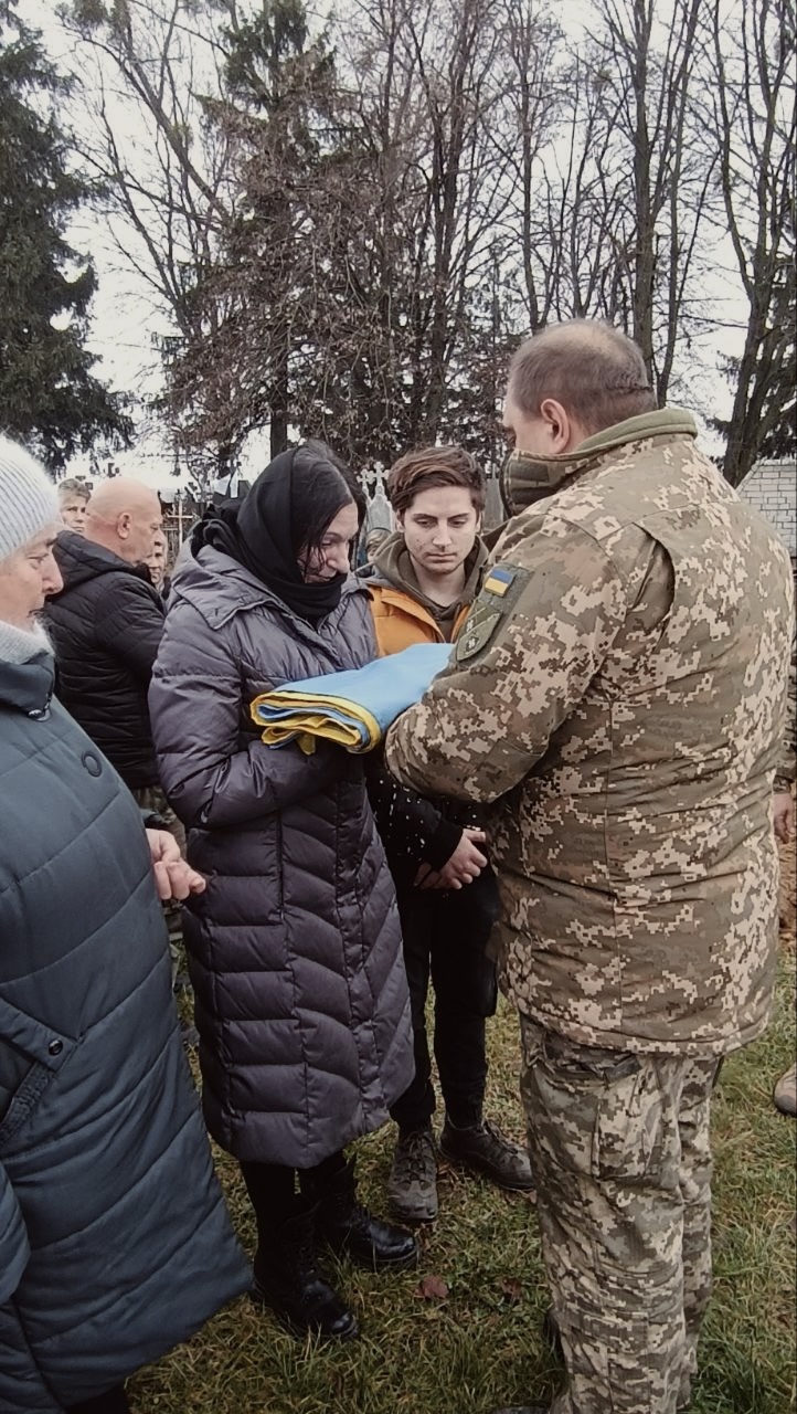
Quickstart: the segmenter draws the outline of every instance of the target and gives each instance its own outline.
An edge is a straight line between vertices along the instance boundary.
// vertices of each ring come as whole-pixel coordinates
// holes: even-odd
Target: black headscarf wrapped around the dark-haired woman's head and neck
[[[300,618],[317,622],[341,602],[345,574],[305,584],[301,550],[314,550],[352,493],[318,452],[294,447],[260,472],[243,501],[228,501],[202,520],[192,549],[212,544],[257,575]]]

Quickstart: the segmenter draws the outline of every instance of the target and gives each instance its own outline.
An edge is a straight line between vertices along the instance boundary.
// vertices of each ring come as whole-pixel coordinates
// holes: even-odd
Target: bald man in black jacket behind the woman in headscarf
[[[164,607],[143,561],[160,527],[150,486],[122,477],[99,482],[83,534],[62,530],[55,542],[64,588],[47,607],[58,696],[140,796],[158,782],[147,691]]]

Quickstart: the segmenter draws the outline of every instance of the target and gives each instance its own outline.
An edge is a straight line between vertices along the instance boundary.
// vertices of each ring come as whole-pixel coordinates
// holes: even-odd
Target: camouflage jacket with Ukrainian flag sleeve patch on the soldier
[[[752,1039],[770,1004],[791,573],[694,437],[671,409],[555,465],[512,460],[526,509],[387,764],[493,802],[520,1011],[584,1045],[699,1055]]]

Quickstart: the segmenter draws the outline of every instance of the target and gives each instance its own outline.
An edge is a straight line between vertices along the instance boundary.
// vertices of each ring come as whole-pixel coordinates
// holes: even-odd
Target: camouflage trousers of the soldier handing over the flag
[[[520,1018],[543,1258],[568,1387],[551,1414],[675,1414],[711,1295],[716,1059],[572,1045]]]

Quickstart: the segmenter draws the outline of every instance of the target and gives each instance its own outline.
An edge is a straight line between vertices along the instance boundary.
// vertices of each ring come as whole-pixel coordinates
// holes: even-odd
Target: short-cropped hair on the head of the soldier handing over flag
[[[656,407],[640,348],[602,320],[569,320],[526,339],[509,365],[509,387],[530,417],[553,397],[589,433]]]

